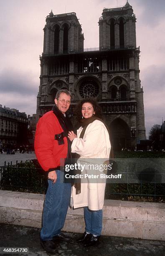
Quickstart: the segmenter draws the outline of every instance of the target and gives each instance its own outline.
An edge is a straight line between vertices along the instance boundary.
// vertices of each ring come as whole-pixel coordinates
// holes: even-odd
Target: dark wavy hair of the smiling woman
[[[91,103],[91,105],[93,106],[94,111],[95,111],[94,116],[102,119],[102,112],[101,112],[101,108],[100,108],[99,104],[96,102],[96,100],[90,98],[90,99],[81,100],[78,103],[78,105],[76,106],[76,114],[77,114],[78,122],[82,119],[81,109],[82,109],[82,105],[86,102]]]

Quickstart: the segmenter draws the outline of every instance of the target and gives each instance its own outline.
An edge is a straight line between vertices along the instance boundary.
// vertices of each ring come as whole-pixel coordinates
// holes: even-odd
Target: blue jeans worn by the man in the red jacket
[[[57,180],[48,180],[48,190],[43,207],[41,240],[51,240],[61,233],[71,197],[71,184],[63,182],[63,172],[56,170]]]

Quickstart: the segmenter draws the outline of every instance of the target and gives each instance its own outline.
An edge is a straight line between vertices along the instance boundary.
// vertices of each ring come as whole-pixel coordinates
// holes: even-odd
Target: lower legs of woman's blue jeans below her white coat
[[[100,236],[102,232],[102,210],[91,211],[84,207],[85,230],[95,236]]]

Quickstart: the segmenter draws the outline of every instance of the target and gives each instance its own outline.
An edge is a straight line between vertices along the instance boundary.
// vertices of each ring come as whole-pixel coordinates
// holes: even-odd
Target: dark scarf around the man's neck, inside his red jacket
[[[73,125],[72,125],[71,121],[69,120],[69,117],[67,115],[64,116],[63,113],[61,113],[61,111],[56,107],[56,105],[53,106],[52,110],[53,110],[53,113],[56,115],[56,117],[65,133],[65,136],[67,138],[67,141],[68,141],[67,158],[71,159],[71,141],[68,138],[68,132],[74,130]]]

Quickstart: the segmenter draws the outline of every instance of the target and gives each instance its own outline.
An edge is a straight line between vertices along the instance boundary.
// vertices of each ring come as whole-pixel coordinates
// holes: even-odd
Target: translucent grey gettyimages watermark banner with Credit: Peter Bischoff
[[[67,159],[61,171],[66,183],[165,183],[165,159]]]

